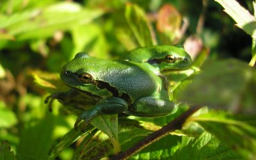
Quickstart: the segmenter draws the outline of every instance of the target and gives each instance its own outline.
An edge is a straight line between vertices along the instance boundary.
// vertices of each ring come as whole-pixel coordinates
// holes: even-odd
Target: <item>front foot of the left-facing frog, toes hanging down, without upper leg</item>
[[[92,109],[90,111],[85,111],[84,113],[82,113],[77,119],[76,119],[76,123],[74,124],[74,128],[77,130],[78,129],[78,125],[80,124],[80,122],[83,120],[83,124],[81,124],[81,131],[84,132],[85,131],[85,127],[90,124],[90,122],[92,121],[92,118],[94,118],[95,116],[100,115],[99,112],[97,111],[97,109]]]

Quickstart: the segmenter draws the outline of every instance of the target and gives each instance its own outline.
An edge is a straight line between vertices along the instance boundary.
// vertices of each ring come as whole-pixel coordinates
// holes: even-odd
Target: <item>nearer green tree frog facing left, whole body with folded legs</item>
[[[170,101],[161,77],[152,72],[155,69],[134,61],[101,60],[84,52],[77,53],[63,67],[62,81],[101,100],[77,118],[75,128],[82,120],[85,127],[92,118],[104,114],[148,117],[172,114],[176,105]]]

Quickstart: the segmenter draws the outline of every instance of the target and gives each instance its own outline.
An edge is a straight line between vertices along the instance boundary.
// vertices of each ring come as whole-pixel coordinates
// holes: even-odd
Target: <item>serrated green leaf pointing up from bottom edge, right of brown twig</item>
[[[225,141],[222,141],[225,143]],[[189,141],[188,145],[179,148],[171,159],[242,159],[233,150],[225,147],[212,134],[203,132]]]

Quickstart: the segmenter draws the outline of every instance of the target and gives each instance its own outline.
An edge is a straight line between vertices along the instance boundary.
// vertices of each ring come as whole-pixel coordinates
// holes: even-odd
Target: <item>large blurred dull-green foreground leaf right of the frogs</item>
[[[256,70],[239,60],[208,61],[180,101],[242,113],[256,113]]]

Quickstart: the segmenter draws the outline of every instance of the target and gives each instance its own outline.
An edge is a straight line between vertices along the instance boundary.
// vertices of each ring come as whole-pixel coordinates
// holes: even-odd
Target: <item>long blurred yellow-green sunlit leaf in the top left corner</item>
[[[77,3],[63,2],[1,17],[0,28],[15,36],[16,40],[46,38],[56,31],[66,31],[78,24],[91,22],[102,13],[102,10],[81,9]]]

